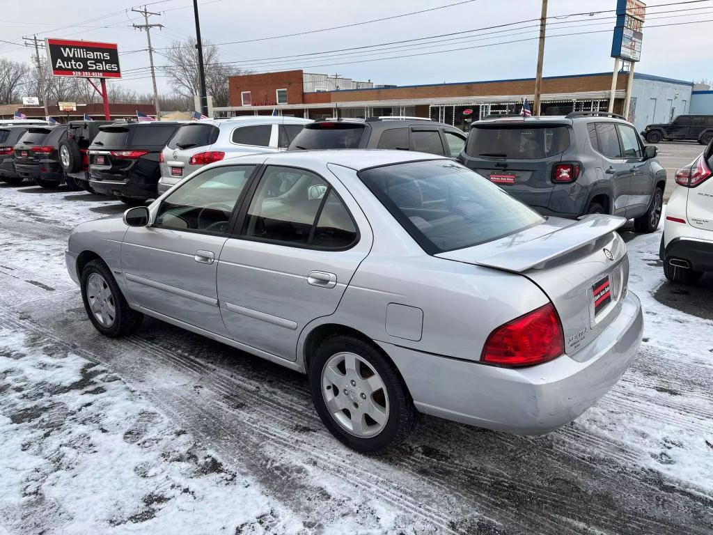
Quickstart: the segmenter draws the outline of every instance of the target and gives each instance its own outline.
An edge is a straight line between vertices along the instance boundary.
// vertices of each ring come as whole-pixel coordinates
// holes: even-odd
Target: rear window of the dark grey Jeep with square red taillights
[[[466,154],[536,160],[564,152],[570,146],[567,126],[475,126],[468,136]]]

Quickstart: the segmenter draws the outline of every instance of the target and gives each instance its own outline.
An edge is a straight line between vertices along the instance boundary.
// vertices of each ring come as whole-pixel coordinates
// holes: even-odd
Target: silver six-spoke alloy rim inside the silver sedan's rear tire
[[[337,353],[325,362],[322,396],[334,421],[355,437],[376,436],[389,419],[384,380],[356,353]]]

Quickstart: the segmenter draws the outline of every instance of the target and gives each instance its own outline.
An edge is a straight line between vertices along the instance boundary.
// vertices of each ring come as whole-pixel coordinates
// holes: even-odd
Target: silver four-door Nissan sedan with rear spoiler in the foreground
[[[538,434],[605,394],[643,327],[622,223],[543,218],[442,157],[262,154],[78,225],[66,263],[103,335],[149,315],[306,373],[376,454],[419,412]]]

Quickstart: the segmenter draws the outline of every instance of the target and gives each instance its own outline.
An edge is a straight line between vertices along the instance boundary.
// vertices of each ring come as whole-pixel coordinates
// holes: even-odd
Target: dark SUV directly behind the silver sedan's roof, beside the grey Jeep
[[[466,134],[454,126],[419,118],[325,119],[304,125],[289,151],[322,148],[389,148],[455,158]]]

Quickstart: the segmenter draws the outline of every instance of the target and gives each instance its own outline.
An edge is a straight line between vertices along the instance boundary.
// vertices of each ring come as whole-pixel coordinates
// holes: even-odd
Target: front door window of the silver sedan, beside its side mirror
[[[205,233],[226,233],[235,203],[255,165],[208,169],[168,195],[154,225]]]

